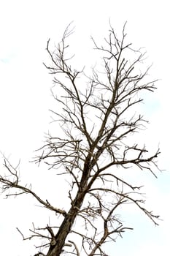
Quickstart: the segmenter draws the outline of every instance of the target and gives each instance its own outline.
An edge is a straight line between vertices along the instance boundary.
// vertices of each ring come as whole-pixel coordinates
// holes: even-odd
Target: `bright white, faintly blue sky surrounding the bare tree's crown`
[[[161,79],[158,90],[146,97],[142,108],[150,120],[142,140],[149,141],[151,150],[160,143],[159,166],[169,170],[169,1],[0,0],[0,150],[11,156],[15,164],[21,159],[25,183],[32,182],[34,186],[40,173],[41,178],[47,174],[37,170],[36,165],[28,164],[34,150],[42,146],[44,133],[50,129],[48,109],[54,106],[50,95],[52,77],[42,65],[47,60],[47,39],[50,37],[52,45],[57,44],[63,30],[74,20],[75,33],[69,41],[71,49],[77,53],[82,66],[92,65],[90,35],[102,42],[109,29],[109,18],[118,33],[128,21],[128,39],[136,48],[146,47],[147,63],[153,63],[150,79]],[[161,215],[163,222],[155,227],[147,217],[129,211],[128,218],[124,219],[135,230],[125,233],[123,239],[118,238],[116,244],[110,244],[110,255],[168,255],[170,175],[167,171],[157,174],[158,179],[148,173],[146,181],[142,181],[146,184],[147,205]],[[44,196],[51,187],[45,181],[42,178],[36,190]],[[28,198],[26,203],[22,197],[3,198],[0,197],[0,255],[34,255],[34,247],[30,249],[29,242],[21,241],[15,230],[15,227],[22,230],[31,227],[38,211],[33,200],[24,197]],[[24,209],[20,210],[22,204]]]

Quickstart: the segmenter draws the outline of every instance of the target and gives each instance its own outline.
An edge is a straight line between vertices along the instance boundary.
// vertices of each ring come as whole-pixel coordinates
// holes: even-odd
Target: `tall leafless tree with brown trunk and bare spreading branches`
[[[155,80],[146,81],[148,68],[139,72],[144,53],[126,42],[125,26],[120,39],[110,26],[102,46],[92,38],[95,50],[103,57],[98,66],[102,72],[93,67],[90,75],[85,75],[84,69],[72,68],[72,56],[66,53],[66,41],[71,34],[68,26],[54,51],[50,50],[50,39],[47,41],[50,65],[45,67],[53,75],[52,92],[59,109],[52,112],[62,132],[48,133],[35,159],[69,181],[69,211],[64,205],[61,209],[42,200],[31,187],[22,186],[18,167],[12,167],[5,158],[8,175],[0,176],[0,181],[3,191],[17,189],[9,195],[31,194],[59,218],[58,226],[31,230],[28,238],[45,239],[45,244],[37,246],[41,249],[36,255],[107,255],[104,243],[115,241],[125,230],[132,229],[125,227],[117,215],[125,204],[132,203],[157,225],[158,216],[144,207],[141,187],[117,174],[118,167],[136,167],[155,176],[159,150],[150,155],[145,146],[133,140],[134,133],[146,123],[136,114],[136,105],[142,102],[139,94],[154,91]]]

